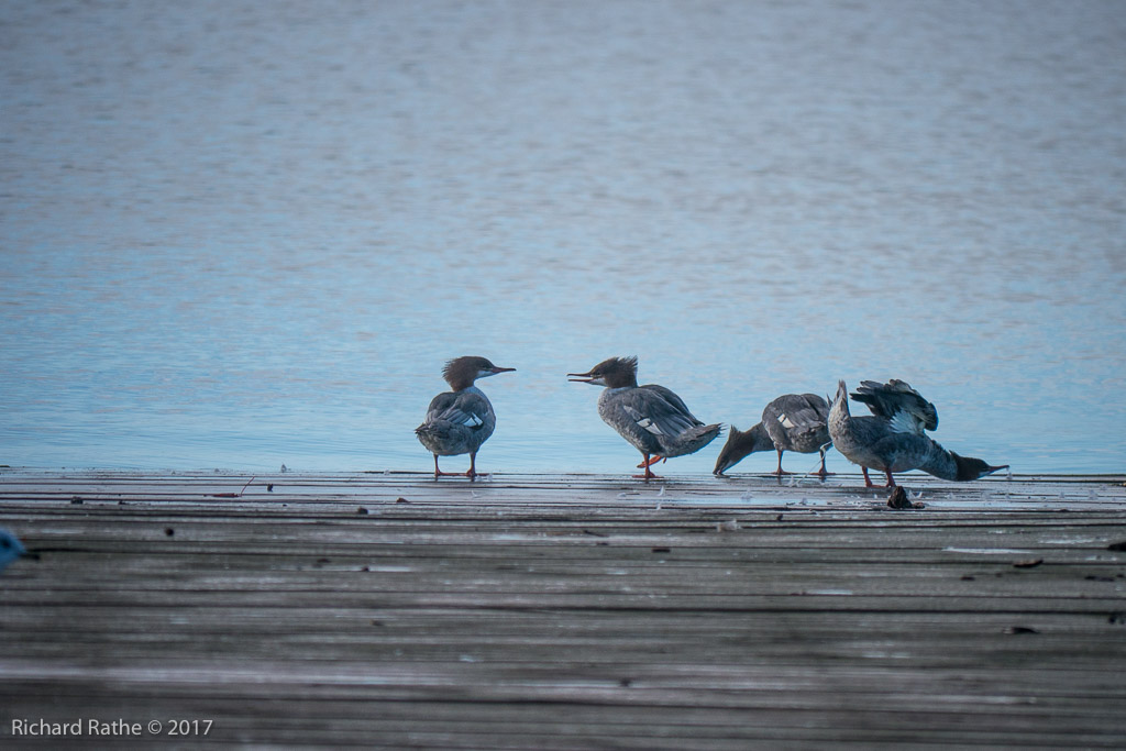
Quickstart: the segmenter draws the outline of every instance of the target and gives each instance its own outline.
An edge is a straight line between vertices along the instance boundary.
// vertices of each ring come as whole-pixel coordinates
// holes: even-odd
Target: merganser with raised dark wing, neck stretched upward
[[[938,427],[938,411],[903,381],[861,382],[852,399],[868,404],[872,417],[851,417],[848,397],[848,387],[841,381],[829,411],[829,436],[838,452],[860,465],[868,488],[874,488],[869,468],[883,471],[887,475],[885,488],[894,488],[893,472],[922,470],[941,480],[965,482],[1009,466],[994,467],[982,459],[958,456],[924,435],[924,430]]]

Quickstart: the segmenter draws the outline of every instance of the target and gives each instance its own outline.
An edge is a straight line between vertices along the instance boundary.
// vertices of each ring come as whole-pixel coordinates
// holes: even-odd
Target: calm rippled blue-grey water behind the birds
[[[709,421],[899,377],[949,448],[1126,470],[1116,0],[0,21],[0,464],[425,471],[480,354],[482,470],[625,472],[564,374],[636,354]]]

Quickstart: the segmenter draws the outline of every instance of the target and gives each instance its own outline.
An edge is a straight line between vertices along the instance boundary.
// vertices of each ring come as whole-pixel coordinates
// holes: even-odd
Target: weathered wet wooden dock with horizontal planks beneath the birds
[[[0,745],[1126,746],[1123,476],[250,480],[0,471]]]

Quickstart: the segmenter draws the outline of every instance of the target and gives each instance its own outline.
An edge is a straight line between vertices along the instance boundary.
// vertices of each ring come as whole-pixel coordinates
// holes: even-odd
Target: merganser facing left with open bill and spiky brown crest
[[[569,373],[572,383],[606,386],[598,397],[598,415],[642,453],[645,480],[655,477],[650,466],[704,448],[720,435],[721,426],[704,424],[683,401],[664,386],[637,385],[637,358],[611,357],[587,373]]]

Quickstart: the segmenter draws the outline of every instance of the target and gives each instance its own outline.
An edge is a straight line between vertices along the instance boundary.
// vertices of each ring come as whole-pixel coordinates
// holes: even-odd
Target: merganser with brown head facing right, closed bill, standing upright
[[[439,456],[470,455],[470,471],[465,476],[477,476],[477,449],[497,427],[497,414],[484,393],[473,385],[477,378],[516,368],[499,368],[483,357],[458,357],[446,363],[441,377],[453,391],[438,394],[430,402],[426,421],[414,429],[419,441],[434,454],[434,479],[444,474],[438,468]]]

